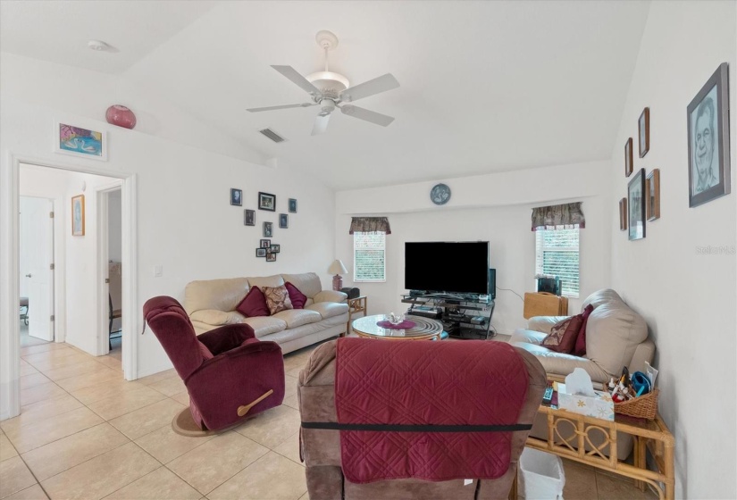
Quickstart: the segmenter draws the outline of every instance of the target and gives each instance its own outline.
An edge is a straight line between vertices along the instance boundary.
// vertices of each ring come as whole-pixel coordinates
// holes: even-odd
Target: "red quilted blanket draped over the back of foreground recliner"
[[[336,358],[340,451],[351,482],[496,479],[507,471],[507,429],[528,384],[512,346],[339,338]]]

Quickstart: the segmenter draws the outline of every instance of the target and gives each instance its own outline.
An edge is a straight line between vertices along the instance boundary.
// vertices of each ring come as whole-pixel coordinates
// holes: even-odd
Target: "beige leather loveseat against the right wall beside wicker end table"
[[[618,378],[622,368],[644,371],[645,362],[652,362],[655,344],[648,337],[648,325],[642,316],[624,304],[614,290],[594,292],[583,301],[594,310],[586,324],[586,355],[561,354],[542,346],[542,340],[550,328],[565,316],[536,316],[527,322],[527,329],[518,329],[509,339],[515,346],[523,347],[537,356],[551,375],[565,377],[576,367],[589,373],[594,382],[607,383]]]

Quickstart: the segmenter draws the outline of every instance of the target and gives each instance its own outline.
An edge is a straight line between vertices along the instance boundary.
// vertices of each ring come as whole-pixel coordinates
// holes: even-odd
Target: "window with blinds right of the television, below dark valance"
[[[535,274],[560,278],[564,296],[578,296],[579,229],[538,229],[535,231]]]

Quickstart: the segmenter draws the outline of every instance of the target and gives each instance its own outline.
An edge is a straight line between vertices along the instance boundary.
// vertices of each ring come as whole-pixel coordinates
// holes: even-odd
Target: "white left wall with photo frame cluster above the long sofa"
[[[33,70],[29,74],[24,71],[27,67]],[[54,154],[51,150],[54,118],[90,122],[59,109],[87,110],[88,99],[112,104],[114,96],[106,94],[113,90],[96,87],[99,75],[94,72],[6,57],[6,54],[0,59],[0,74],[3,168],[7,167],[5,162],[12,153],[51,163],[138,174],[139,310],[152,296],[170,295],[182,300],[184,287],[192,279],[316,271],[326,287],[330,287],[326,268],[334,248],[334,195],[309,172],[266,168],[182,144],[198,144],[207,133],[201,128],[188,130],[188,137],[181,137],[181,142],[175,143],[93,121],[96,127],[108,132],[108,162]],[[39,101],[44,104],[38,104]],[[135,108],[134,104],[130,105]],[[163,123],[178,118],[156,117]],[[243,189],[243,207],[230,206],[230,187]],[[258,191],[277,196],[278,212],[256,211],[256,227],[245,227],[243,209],[255,209]],[[278,214],[287,212],[289,197],[297,198],[299,212],[289,214],[289,229],[279,229]],[[88,215],[91,212],[88,210]],[[281,244],[277,262],[255,257],[263,221],[274,223],[272,241]],[[163,265],[161,278],[153,276],[156,264]],[[136,331],[142,329],[141,320]],[[138,336],[138,376],[170,366],[150,331]],[[3,380],[2,387],[7,383]]]

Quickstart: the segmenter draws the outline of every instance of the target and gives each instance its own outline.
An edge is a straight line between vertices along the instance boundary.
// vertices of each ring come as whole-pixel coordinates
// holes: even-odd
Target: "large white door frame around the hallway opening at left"
[[[77,171],[121,179],[122,212],[122,366],[127,380],[138,378],[138,224],[137,175],[81,163],[33,157],[7,152],[0,163],[0,420],[21,413],[21,333],[18,321],[20,294],[18,211],[21,163],[64,171]],[[125,335],[128,332],[128,335]]]

